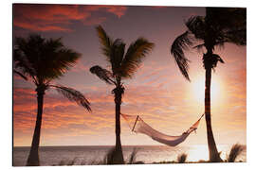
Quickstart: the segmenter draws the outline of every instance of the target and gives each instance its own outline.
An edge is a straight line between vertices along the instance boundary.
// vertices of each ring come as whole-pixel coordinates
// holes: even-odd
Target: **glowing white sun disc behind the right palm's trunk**
[[[205,101],[205,77],[198,77],[192,83],[193,96],[198,102]],[[217,78],[211,78],[210,101],[212,104],[218,102],[221,95],[221,83]]]

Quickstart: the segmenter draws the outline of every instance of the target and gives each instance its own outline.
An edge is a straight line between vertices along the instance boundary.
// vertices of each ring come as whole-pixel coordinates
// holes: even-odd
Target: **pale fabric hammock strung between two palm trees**
[[[154,128],[150,127],[148,124],[146,124],[138,115],[128,115],[128,114],[122,114],[122,117],[126,122],[128,123],[128,126],[132,129],[132,131],[136,133],[143,133],[151,137],[153,140],[161,143],[161,144],[167,144],[170,146],[175,146],[177,144],[182,143],[186,140],[186,138],[192,133],[192,131],[196,132],[201,118],[204,116],[204,114],[190,127],[187,131],[182,133],[180,136],[170,136],[163,134]]]

